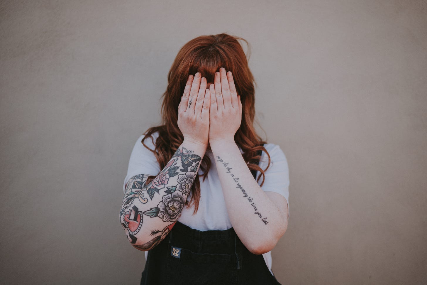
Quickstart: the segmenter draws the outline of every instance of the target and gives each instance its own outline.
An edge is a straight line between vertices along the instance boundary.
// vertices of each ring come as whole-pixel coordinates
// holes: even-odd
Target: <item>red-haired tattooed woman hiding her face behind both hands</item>
[[[255,133],[238,39],[200,36],[181,48],[162,125],[132,150],[120,222],[146,252],[141,284],[279,284],[271,250],[287,229],[288,165]]]

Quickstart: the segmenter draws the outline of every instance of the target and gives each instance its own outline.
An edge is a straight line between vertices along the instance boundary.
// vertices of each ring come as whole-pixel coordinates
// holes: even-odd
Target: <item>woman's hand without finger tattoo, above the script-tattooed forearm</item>
[[[225,73],[225,68],[219,68],[209,90],[209,143],[212,145],[223,139],[234,141],[234,135],[242,122],[242,102],[236,92],[231,71]]]

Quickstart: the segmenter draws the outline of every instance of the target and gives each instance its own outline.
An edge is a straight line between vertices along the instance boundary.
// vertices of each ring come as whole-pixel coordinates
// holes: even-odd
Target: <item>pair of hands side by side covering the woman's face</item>
[[[184,140],[207,146],[222,140],[233,140],[242,120],[242,103],[236,92],[231,71],[220,68],[213,84],[197,72],[188,76],[178,106],[178,127]]]

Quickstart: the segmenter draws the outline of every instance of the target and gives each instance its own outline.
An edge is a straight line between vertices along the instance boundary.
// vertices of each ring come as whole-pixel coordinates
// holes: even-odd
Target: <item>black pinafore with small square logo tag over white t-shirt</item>
[[[252,170],[252,175],[256,179],[256,171]],[[233,228],[199,231],[178,221],[168,236],[149,250],[140,284],[280,285],[263,255],[251,253]]]

